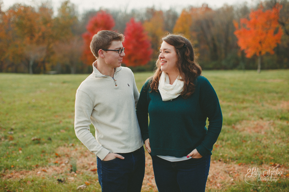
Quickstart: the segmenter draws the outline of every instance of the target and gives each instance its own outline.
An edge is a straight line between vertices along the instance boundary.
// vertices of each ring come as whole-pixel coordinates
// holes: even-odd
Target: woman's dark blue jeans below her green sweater
[[[204,192],[211,155],[199,159],[171,162],[151,156],[159,192]]]

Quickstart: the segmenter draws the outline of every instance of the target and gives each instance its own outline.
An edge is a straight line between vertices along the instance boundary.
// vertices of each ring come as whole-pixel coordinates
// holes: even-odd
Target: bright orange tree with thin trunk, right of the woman
[[[281,8],[278,3],[273,9],[266,11],[261,7],[250,13],[249,20],[240,19],[240,27],[236,21],[234,22],[237,29],[234,34],[238,38],[237,43],[241,50],[245,51],[247,58],[253,55],[258,57],[258,73],[261,71],[261,56],[267,52],[274,54],[273,49],[281,42],[283,32],[278,23]]]

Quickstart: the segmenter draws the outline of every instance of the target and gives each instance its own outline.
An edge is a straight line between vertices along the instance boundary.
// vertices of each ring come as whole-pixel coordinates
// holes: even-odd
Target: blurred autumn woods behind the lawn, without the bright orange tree
[[[112,17],[114,26],[111,30],[119,33],[126,33],[131,18],[142,24],[152,54],[145,65],[123,63],[124,66],[135,66],[135,71],[153,70],[160,39],[166,33],[183,33],[190,39],[203,69],[257,69],[257,56],[246,58],[237,44],[234,22],[249,18],[250,12],[260,7],[272,9],[277,2],[282,5],[278,20],[283,31],[281,43],[274,48],[274,54],[262,56],[261,63],[262,69],[288,69],[288,0],[264,1],[256,7],[248,7],[246,3],[224,5],[218,9],[203,4],[201,7],[186,7],[181,13],[173,8],[164,11],[150,7],[130,12],[90,10],[82,15],[70,1],[64,1],[58,13],[54,14],[49,3],[42,3],[39,7],[14,4],[3,11],[0,0],[0,72],[90,73],[93,57],[89,55],[85,34],[94,27],[92,24],[101,28],[103,20],[97,17],[100,12]],[[140,50],[140,47],[135,47],[135,52]]]

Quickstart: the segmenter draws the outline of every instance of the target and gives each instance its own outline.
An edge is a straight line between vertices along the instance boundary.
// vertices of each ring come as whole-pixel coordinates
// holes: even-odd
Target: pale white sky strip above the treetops
[[[0,0],[1,1],[1,0]],[[24,3],[26,5],[38,6],[41,2],[51,2],[54,12],[57,12],[58,7],[64,0],[2,0],[2,10],[7,10],[14,3]],[[210,8],[216,9],[224,4],[241,5],[247,2],[247,5],[253,6],[258,0],[70,0],[77,6],[79,14],[88,10],[100,8],[116,9],[122,11],[131,11],[131,9],[142,9],[154,6],[155,9],[168,10],[175,8],[176,11],[181,11],[189,5],[200,7],[203,3],[207,3]]]

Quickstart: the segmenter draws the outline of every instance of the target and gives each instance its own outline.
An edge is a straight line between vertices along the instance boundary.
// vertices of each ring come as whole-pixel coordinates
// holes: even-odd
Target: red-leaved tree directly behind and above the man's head
[[[93,37],[98,31],[100,30],[111,30],[114,27],[114,19],[109,13],[105,11],[99,11],[96,16],[92,17],[87,26],[85,32],[82,35],[84,39],[84,52],[82,55],[82,61],[88,65],[95,61],[95,57],[90,51],[90,42]]]

